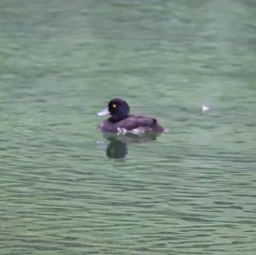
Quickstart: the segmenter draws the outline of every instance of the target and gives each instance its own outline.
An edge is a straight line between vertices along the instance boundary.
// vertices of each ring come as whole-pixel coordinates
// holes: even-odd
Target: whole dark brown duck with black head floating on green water
[[[98,130],[108,133],[146,135],[162,133],[165,129],[158,124],[157,119],[130,113],[127,101],[113,98],[108,107],[97,113],[98,116],[110,115],[98,125]]]

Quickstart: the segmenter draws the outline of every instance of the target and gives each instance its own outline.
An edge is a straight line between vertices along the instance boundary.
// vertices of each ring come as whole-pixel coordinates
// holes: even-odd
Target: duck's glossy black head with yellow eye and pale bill
[[[103,110],[98,115],[103,116],[110,114],[109,121],[118,122],[122,119],[125,119],[129,116],[130,107],[125,100],[120,98],[113,98],[108,102],[108,109]]]

